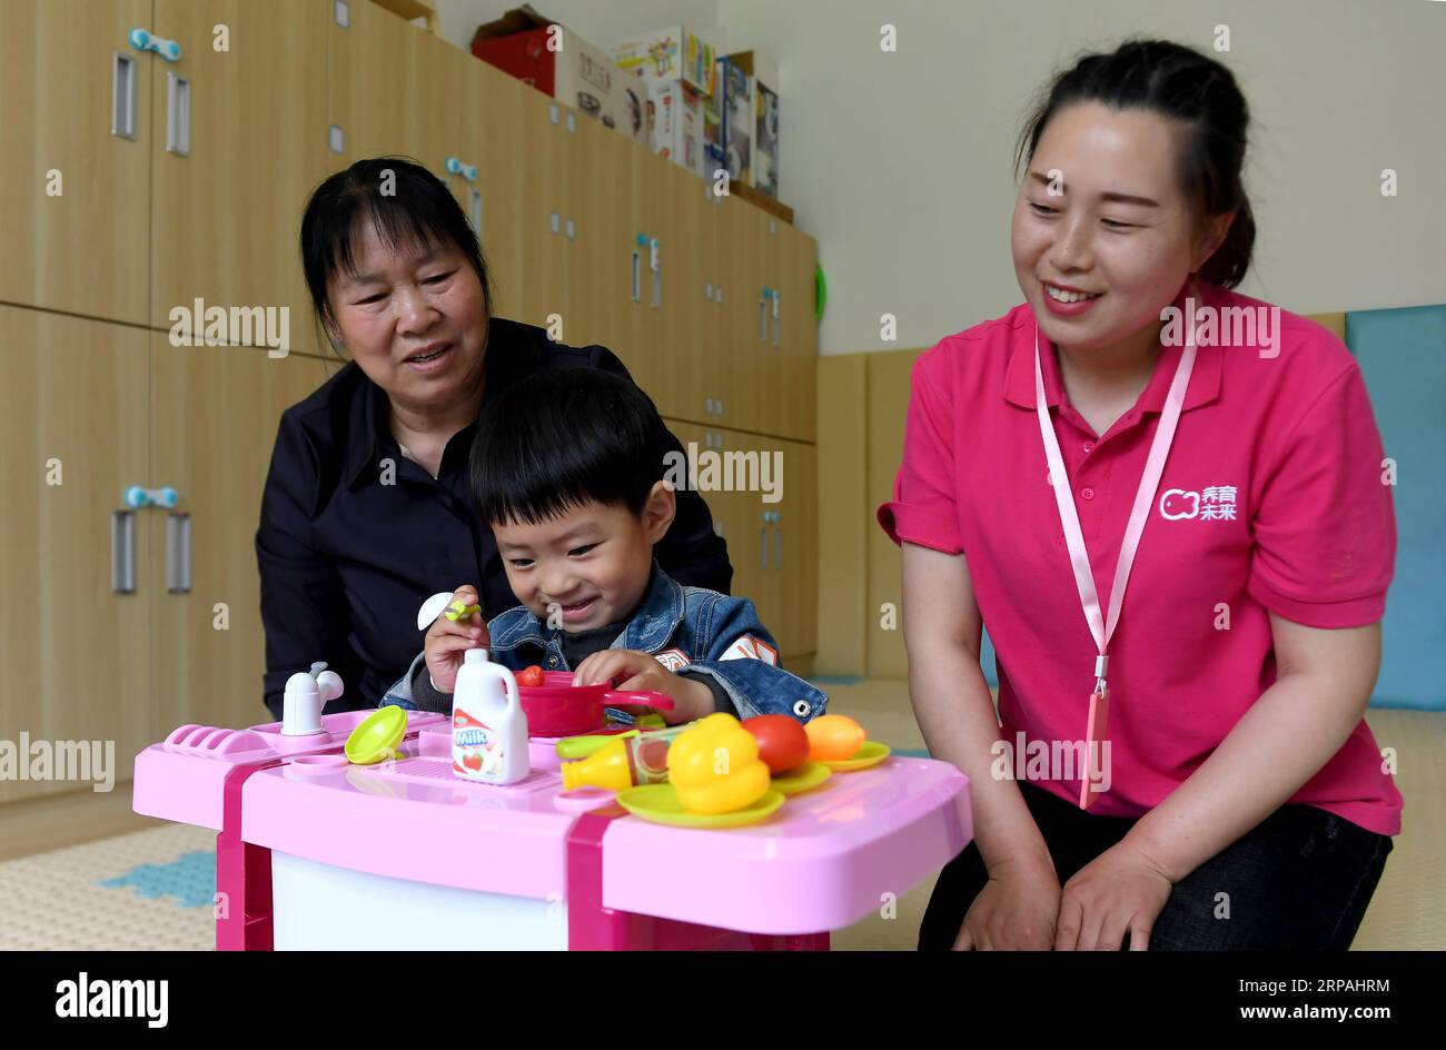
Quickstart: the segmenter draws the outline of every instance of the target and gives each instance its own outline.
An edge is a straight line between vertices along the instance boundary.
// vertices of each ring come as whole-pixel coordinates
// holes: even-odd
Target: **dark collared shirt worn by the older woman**
[[[539,369],[628,376],[606,347],[562,346],[499,317],[487,325],[483,406]],[[473,583],[487,619],[518,605],[467,487],[477,424],[451,437],[432,477],[402,456],[389,419],[386,392],[354,362],[282,414],[256,531],[263,690],[275,717],[286,678],[318,660],[346,683],[328,710],[376,706],[421,649],[416,610],[429,594]],[[675,437],[672,447],[683,451]],[[680,489],[678,515],[654,555],[680,583],[729,592],[727,547],[691,489]]]

